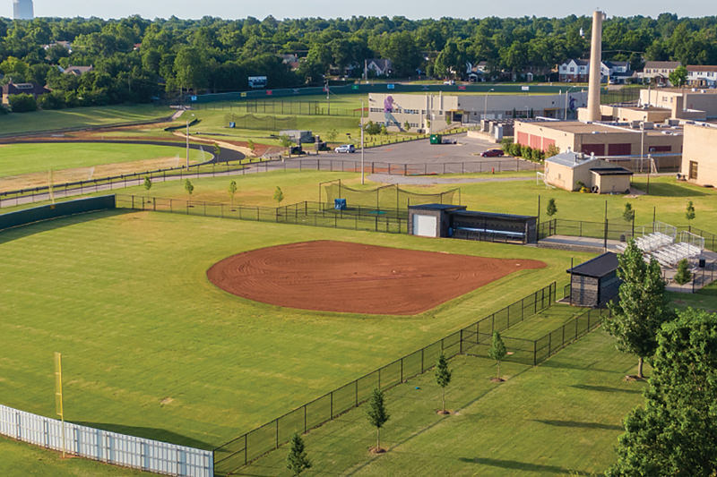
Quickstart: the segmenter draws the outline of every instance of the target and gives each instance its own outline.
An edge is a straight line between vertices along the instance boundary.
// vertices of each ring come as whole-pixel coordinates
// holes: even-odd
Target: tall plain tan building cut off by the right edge
[[[717,125],[685,126],[682,175],[691,183],[717,187]]]

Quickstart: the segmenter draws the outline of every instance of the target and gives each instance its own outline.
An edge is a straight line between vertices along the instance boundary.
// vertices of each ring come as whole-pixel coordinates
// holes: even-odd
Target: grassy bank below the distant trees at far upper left
[[[18,134],[53,131],[82,126],[149,121],[170,115],[172,110],[168,107],[153,105],[75,107],[57,111],[0,115],[0,132]]]

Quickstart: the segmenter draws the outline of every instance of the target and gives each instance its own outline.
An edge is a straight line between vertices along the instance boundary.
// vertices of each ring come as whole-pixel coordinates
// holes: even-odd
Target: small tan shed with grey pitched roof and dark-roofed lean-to
[[[585,187],[596,193],[627,193],[632,175],[624,167],[570,150],[545,160],[545,183],[566,191]]]

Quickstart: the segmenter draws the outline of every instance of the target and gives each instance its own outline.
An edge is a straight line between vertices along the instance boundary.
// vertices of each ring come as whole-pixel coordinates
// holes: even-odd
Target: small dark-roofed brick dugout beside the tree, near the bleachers
[[[570,304],[600,308],[618,296],[618,255],[603,253],[567,270],[570,274]]]

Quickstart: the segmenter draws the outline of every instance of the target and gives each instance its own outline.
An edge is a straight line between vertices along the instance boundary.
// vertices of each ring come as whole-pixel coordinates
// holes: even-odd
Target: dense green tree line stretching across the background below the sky
[[[605,60],[717,64],[717,17],[662,13],[605,22]],[[3,81],[47,84],[45,107],[150,102],[182,91],[248,89],[248,76],[267,76],[269,88],[322,84],[324,75],[360,77],[364,61],[386,58],[398,78],[460,77],[465,64],[485,61],[490,72],[549,72],[589,53],[591,18],[408,20],[351,17],[278,21],[0,19]],[[581,32],[583,33],[581,35]],[[72,51],[60,42],[71,42]],[[297,55],[292,68],[280,55]],[[92,65],[74,76],[56,66]],[[296,66],[296,65],[294,65]]]

